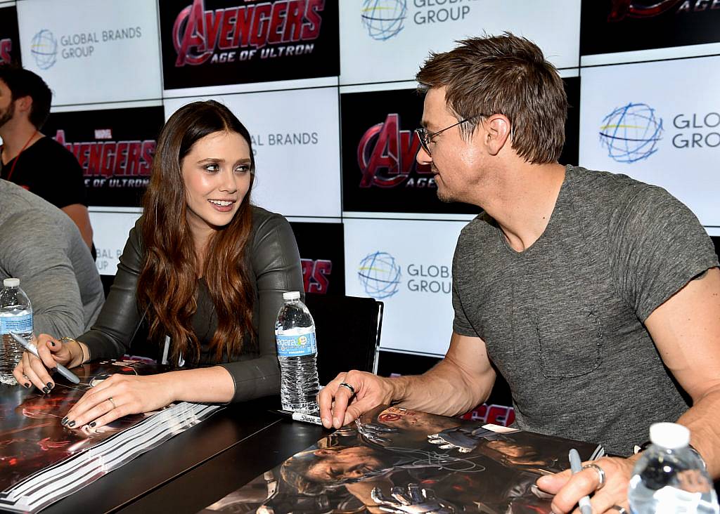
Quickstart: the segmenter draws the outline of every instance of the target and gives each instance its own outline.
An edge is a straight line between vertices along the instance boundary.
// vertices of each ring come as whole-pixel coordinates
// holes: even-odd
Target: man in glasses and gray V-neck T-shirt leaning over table
[[[720,477],[720,270],[696,217],[661,188],[557,163],[567,99],[528,40],[465,40],[417,78],[418,162],[441,200],[484,209],[456,247],[450,347],[419,376],[341,373],[320,393],[325,426],[379,403],[463,413],[497,368],[519,428],[626,456],[651,423],[678,421]],[[556,513],[592,492],[593,512],[628,508],[636,459],[538,485]]]

